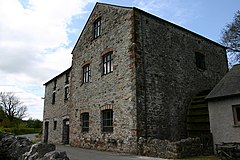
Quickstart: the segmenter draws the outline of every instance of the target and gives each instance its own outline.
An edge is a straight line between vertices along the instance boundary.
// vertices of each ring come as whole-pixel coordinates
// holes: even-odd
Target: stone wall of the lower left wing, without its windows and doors
[[[66,70],[45,84],[43,134],[45,133],[45,122],[49,122],[49,143],[62,143],[63,120],[64,118],[68,117],[69,103],[69,99],[65,100],[66,72],[70,72],[70,70]],[[57,85],[55,89],[55,103],[52,104],[54,80],[57,80]],[[57,122],[57,127],[55,130],[54,121]]]

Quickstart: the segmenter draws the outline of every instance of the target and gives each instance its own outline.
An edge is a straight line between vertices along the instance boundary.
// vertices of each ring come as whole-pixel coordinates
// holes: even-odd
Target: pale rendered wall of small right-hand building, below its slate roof
[[[213,142],[240,142],[240,126],[234,125],[232,105],[240,105],[240,96],[208,103]]]

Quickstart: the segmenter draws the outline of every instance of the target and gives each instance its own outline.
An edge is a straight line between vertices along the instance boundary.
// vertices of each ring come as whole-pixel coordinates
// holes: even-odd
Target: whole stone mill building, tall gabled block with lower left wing
[[[193,97],[227,70],[218,43],[135,7],[96,3],[72,66],[44,84],[43,139],[131,153],[144,139],[185,139]]]

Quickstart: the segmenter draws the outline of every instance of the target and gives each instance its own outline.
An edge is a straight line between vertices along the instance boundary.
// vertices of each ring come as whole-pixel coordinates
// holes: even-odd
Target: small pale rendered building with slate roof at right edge
[[[240,143],[240,65],[235,65],[206,97],[214,144]]]

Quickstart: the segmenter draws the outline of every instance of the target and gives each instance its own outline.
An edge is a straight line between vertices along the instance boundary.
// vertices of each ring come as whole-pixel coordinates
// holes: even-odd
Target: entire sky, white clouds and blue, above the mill
[[[43,84],[71,66],[71,51],[96,0],[0,0],[0,92],[43,119]],[[99,0],[137,7],[215,42],[240,0]]]

